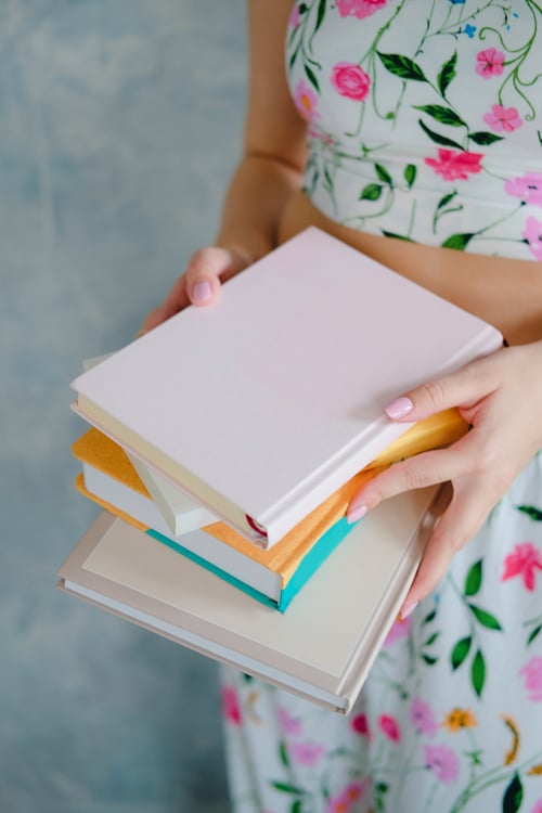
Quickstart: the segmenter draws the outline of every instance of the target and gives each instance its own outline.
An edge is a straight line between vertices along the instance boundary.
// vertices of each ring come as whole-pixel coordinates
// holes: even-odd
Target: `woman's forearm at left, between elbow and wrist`
[[[216,245],[245,255],[248,262],[270,251],[282,212],[300,183],[300,169],[271,155],[248,154],[228,188]]]

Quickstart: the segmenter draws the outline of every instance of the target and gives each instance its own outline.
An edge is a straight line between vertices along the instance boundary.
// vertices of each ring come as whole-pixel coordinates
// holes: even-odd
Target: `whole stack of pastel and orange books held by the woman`
[[[104,508],[59,585],[346,712],[446,494],[361,485],[467,429],[383,405],[496,350],[490,325],[308,229],[79,376],[77,488]]]

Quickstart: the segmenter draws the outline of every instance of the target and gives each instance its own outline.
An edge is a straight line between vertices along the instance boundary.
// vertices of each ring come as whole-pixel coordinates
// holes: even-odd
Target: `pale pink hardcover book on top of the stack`
[[[79,376],[76,411],[262,546],[411,424],[383,406],[500,333],[310,228]]]

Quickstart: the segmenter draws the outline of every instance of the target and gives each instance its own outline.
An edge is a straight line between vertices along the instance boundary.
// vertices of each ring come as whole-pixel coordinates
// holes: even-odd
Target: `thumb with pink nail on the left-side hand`
[[[184,285],[192,305],[211,305],[221,282],[230,280],[248,264],[238,251],[227,248],[201,248],[192,255],[184,273]]]

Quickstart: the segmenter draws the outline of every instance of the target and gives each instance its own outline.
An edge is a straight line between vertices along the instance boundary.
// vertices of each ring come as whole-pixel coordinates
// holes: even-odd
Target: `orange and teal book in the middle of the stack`
[[[124,450],[95,428],[74,443],[74,454],[83,467],[76,487],[109,513],[191,556],[254,598],[284,611],[349,532],[346,509],[363,481],[402,456],[452,442],[466,428],[456,410],[418,422],[268,550],[251,544],[223,522],[205,526],[202,532],[171,537]]]

